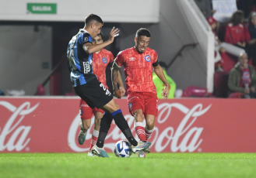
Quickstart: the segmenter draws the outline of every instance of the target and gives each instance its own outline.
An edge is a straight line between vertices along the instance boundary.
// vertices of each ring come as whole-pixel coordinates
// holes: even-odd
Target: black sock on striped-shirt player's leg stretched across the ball
[[[133,137],[131,129],[129,128],[129,125],[126,122],[124,115],[121,112],[121,109],[112,112],[111,115],[114,118],[114,122],[116,123],[117,127],[120,128],[121,132],[123,132],[126,139],[128,139],[128,141],[132,145],[138,145],[138,142]]]

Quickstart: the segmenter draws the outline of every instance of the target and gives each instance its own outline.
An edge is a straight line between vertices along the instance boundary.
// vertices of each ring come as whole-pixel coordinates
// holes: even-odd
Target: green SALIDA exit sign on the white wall
[[[26,10],[32,14],[57,14],[56,3],[27,3]]]

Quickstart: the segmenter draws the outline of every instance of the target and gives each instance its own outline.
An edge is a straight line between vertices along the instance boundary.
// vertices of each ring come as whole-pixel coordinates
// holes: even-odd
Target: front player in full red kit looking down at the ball
[[[124,66],[128,108],[135,118],[135,132],[141,141],[146,141],[152,134],[158,112],[153,70],[166,86],[162,93],[163,98],[167,98],[170,91],[170,85],[158,63],[156,51],[148,47],[150,36],[148,29],[139,29],[135,35],[135,46],[118,53],[112,66],[112,84],[116,97],[124,95],[117,88],[117,71]],[[146,125],[142,123],[143,116]]]

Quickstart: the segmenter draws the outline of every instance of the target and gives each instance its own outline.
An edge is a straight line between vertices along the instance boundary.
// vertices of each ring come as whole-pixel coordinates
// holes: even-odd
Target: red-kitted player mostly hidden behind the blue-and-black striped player
[[[93,39],[93,44],[101,44],[103,43],[103,36],[102,34],[98,34]],[[96,74],[98,80],[103,84],[105,87],[107,87],[107,81],[106,81],[106,68],[112,66],[112,62],[114,60],[113,54],[105,49],[101,49],[99,51],[96,51],[93,53],[93,73]],[[121,82],[121,77],[119,78],[119,82],[121,83],[121,90],[124,90],[124,85]],[[108,89],[108,87],[107,87]],[[88,156],[93,156],[93,153],[91,152],[91,149],[93,148],[93,145],[96,144],[96,141],[98,139],[99,130],[100,130],[100,118],[103,117],[104,111],[100,108],[90,108],[88,104],[86,104],[86,101],[83,101],[80,99],[80,117],[82,122],[80,123],[81,131],[79,132],[79,144],[82,145],[85,142],[86,139],[86,133],[91,125],[91,118],[93,115],[94,118],[94,128],[92,132],[92,141],[89,147]]]

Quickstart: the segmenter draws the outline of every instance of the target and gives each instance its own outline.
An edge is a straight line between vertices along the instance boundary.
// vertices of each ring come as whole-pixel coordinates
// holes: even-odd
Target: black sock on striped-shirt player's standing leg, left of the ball
[[[105,112],[103,117],[100,119],[100,132],[99,132],[99,136],[98,136],[98,139],[96,142],[96,145],[100,148],[102,148],[104,145],[104,141],[106,139],[107,132],[110,129],[112,120],[113,120],[112,115],[107,112]]]

